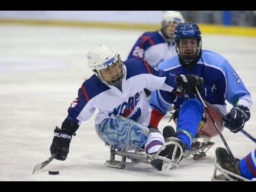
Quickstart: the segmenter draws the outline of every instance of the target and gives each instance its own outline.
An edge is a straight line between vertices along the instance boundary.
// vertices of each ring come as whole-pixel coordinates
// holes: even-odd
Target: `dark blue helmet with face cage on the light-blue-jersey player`
[[[187,40],[180,43],[180,39],[190,39],[191,44]],[[202,54],[201,31],[196,23],[179,23],[174,31],[174,42],[181,65],[189,69],[194,67]]]

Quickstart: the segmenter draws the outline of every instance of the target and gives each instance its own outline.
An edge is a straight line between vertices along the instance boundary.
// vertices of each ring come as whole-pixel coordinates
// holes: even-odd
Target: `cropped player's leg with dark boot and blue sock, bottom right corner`
[[[230,156],[228,151],[221,147],[218,147],[215,153],[217,162],[223,169],[249,180],[256,178],[256,149],[241,160]]]

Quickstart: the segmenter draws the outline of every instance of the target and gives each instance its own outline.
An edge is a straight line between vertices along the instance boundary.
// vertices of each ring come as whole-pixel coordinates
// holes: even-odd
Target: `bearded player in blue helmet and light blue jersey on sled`
[[[175,29],[174,41],[178,54],[161,62],[158,69],[169,74],[196,74],[203,77],[202,98],[228,117],[228,121],[225,121],[210,110],[220,131],[223,130],[223,126],[233,133],[241,131],[250,118],[252,99],[235,69],[221,54],[202,50],[201,31],[194,22],[180,23]],[[229,113],[225,100],[234,106]],[[197,94],[185,94],[179,97],[173,92],[156,90],[151,93],[149,103],[153,108],[150,127],[155,128],[158,128],[158,123],[171,105],[174,105],[173,119],[177,125],[177,137],[187,146],[190,146],[195,134],[207,137],[218,135],[209,114],[205,114],[204,110],[197,110],[203,107]],[[167,127],[170,129],[170,126]],[[197,133],[190,131],[197,128]],[[165,130],[163,134],[164,132]]]

